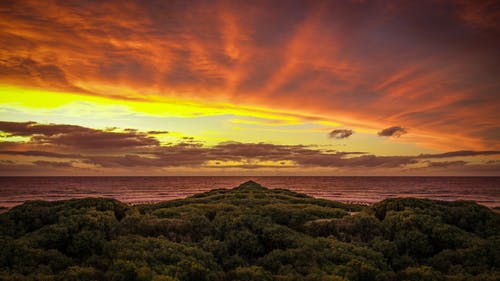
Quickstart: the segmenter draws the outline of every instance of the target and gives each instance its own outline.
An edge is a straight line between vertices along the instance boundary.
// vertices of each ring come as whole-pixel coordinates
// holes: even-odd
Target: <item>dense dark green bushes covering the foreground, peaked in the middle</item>
[[[0,280],[499,280],[500,214],[372,206],[247,182],[187,199],[31,201],[0,214]]]

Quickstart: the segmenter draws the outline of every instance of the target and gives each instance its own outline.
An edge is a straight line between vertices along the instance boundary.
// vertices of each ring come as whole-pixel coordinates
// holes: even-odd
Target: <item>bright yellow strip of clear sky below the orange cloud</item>
[[[129,94],[128,91],[125,92]],[[116,91],[113,93],[120,94]],[[134,95],[128,96],[134,97]],[[376,152],[379,155],[431,152],[422,151],[415,145],[379,138],[374,131],[365,133],[367,129],[362,127],[346,126],[355,131],[349,142],[332,140],[327,134],[335,127],[339,127],[339,123],[302,113],[228,103],[197,102],[187,98],[157,95],[143,97],[147,100],[127,100],[0,85],[0,115],[3,115],[4,120],[15,119],[17,122],[33,120],[41,123],[78,124],[93,128],[116,126],[113,124],[119,123],[118,127],[122,128],[131,126],[143,131],[168,130],[169,134],[154,136],[162,145],[178,143],[186,136],[194,137],[196,141],[202,141],[206,146],[236,140],[255,143],[328,145],[335,150]],[[10,112],[16,112],[16,115],[10,116]],[[47,116],[47,119],[44,116]],[[82,119],[85,116],[89,116],[89,120]],[[149,117],[160,118],[148,119]],[[198,117],[207,119],[203,120],[204,123],[200,123]],[[161,120],[163,118],[165,120]],[[168,118],[182,120],[168,120]],[[105,121],[108,119],[109,121]],[[389,141],[390,145],[387,145]]]

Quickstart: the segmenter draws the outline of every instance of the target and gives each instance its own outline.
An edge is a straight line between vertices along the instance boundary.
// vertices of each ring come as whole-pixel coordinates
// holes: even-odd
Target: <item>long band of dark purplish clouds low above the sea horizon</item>
[[[418,167],[422,164],[428,168],[456,168],[469,166],[470,163],[461,159],[459,161],[439,161],[437,159],[500,155],[500,151],[495,150],[464,150],[415,156],[378,156],[364,152],[321,150],[305,145],[234,141],[204,146],[190,137],[183,138],[180,143],[162,145],[147,135],[150,132],[144,133],[135,129],[97,130],[75,125],[43,125],[36,122],[0,122],[0,129],[10,136],[31,137],[29,142],[9,142],[7,145],[1,145],[0,155],[9,157],[5,160],[14,161],[19,158],[31,160],[35,158],[32,160],[31,166],[17,165],[15,162],[2,162],[4,166],[12,165],[13,169],[14,166],[18,166],[19,171],[28,171],[29,167],[31,169],[38,169],[38,167],[77,169],[73,165],[75,162],[93,166],[96,169],[213,168],[214,166],[240,169],[285,169],[290,167],[394,169]],[[37,149],[35,150],[33,147]],[[64,151],[66,147],[74,148],[77,152],[60,152]],[[47,161],[45,158],[50,158],[51,161]],[[436,161],[431,161],[433,159]],[[287,163],[291,165],[287,165]]]

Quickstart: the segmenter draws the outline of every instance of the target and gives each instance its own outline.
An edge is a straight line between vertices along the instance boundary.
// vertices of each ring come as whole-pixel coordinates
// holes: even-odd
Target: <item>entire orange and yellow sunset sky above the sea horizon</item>
[[[498,1],[0,2],[0,175],[500,175]]]

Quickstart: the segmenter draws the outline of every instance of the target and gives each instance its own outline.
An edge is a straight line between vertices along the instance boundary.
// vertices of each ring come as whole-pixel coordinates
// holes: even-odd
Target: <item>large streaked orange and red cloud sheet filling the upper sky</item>
[[[0,83],[275,108],[499,149],[490,1],[0,4]],[[411,136],[413,135],[413,136]]]

